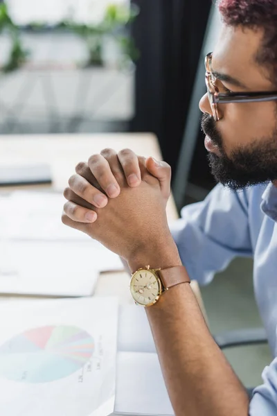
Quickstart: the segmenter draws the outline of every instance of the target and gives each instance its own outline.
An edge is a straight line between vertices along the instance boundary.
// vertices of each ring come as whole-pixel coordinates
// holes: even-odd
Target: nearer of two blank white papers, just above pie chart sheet
[[[93,294],[99,272],[89,245],[6,241],[0,249],[0,293]]]

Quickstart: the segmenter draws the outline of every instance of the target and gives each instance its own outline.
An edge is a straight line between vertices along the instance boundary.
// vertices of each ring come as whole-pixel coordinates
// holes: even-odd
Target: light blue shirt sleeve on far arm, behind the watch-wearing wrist
[[[234,257],[251,257],[246,191],[217,186],[202,202],[181,210],[170,226],[191,279],[208,284]]]

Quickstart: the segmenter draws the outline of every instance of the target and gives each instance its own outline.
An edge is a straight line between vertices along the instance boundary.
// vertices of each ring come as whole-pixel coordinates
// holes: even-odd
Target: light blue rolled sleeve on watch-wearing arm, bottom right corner
[[[277,358],[262,372],[264,383],[253,391],[249,416],[277,415]]]

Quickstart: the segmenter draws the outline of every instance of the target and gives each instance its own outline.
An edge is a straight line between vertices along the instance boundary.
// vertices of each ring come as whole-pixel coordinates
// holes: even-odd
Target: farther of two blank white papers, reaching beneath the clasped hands
[[[119,257],[98,241],[62,223],[66,200],[60,193],[17,191],[0,198],[0,242],[53,241],[87,243],[94,268],[100,272],[123,270]],[[86,248],[85,248],[86,247]],[[1,262],[1,259],[0,259]],[[1,266],[0,266],[1,268]]]

